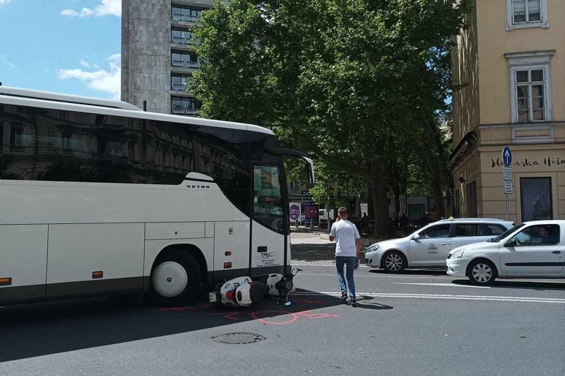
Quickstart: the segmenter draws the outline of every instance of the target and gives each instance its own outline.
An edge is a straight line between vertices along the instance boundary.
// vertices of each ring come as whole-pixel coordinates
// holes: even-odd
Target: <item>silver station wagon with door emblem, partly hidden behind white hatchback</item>
[[[405,268],[445,268],[451,249],[484,242],[512,228],[496,218],[457,218],[430,223],[407,237],[370,245],[365,262],[371,268],[400,273]]]

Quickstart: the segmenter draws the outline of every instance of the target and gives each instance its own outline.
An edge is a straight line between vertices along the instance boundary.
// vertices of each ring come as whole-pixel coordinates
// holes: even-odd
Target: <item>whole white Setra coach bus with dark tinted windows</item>
[[[290,270],[272,131],[0,86],[0,305]]]

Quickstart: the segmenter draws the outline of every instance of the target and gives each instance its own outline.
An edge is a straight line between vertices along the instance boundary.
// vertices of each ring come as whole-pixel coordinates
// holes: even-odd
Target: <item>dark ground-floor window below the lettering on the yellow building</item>
[[[552,178],[521,177],[520,201],[523,222],[552,219]]]

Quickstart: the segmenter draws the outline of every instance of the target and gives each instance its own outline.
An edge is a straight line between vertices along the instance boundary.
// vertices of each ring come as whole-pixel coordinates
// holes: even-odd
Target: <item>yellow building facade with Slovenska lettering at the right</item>
[[[475,0],[454,38],[456,216],[565,219],[564,0]]]

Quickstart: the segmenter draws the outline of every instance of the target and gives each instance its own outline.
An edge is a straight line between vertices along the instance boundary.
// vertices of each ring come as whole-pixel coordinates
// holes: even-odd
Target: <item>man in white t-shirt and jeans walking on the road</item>
[[[341,301],[347,301],[347,288],[349,288],[350,301],[348,304],[357,307],[355,301],[355,281],[353,281],[353,269],[357,259],[359,259],[359,250],[361,249],[361,235],[357,227],[350,221],[347,221],[349,215],[346,208],[338,209],[338,218],[331,226],[330,241],[335,239],[335,266],[338,268],[338,282],[341,288]],[[345,266],[345,276],[343,276],[343,266]],[[347,279],[347,287],[345,280]]]

